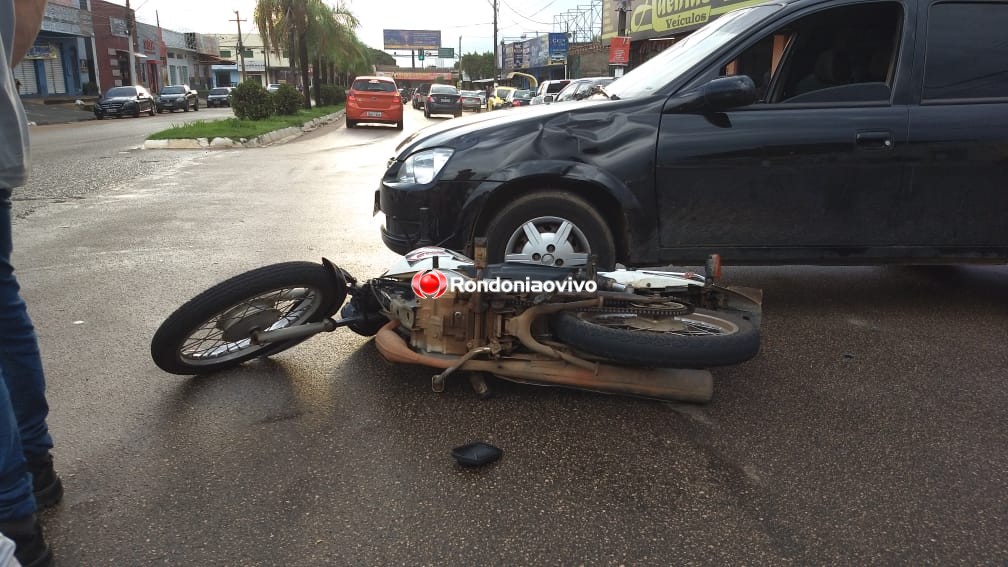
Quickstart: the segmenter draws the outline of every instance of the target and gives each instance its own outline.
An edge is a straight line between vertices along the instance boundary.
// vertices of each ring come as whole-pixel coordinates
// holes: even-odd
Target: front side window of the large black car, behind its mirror
[[[759,38],[720,75],[750,77],[764,103],[888,101],[902,21],[896,2],[821,10]]]

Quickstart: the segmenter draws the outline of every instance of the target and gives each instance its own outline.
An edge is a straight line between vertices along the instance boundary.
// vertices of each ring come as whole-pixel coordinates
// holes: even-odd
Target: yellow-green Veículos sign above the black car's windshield
[[[602,0],[602,38],[616,37],[620,0]],[[714,18],[762,0],[629,0],[626,34],[634,41],[692,31]]]

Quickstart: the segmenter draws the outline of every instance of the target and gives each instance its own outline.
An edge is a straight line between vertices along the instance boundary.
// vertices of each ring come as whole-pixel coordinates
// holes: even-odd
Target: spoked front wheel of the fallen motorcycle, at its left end
[[[339,271],[339,270],[338,270]],[[257,345],[251,332],[317,323],[347,297],[342,276],[293,261],[263,266],[193,298],[161,323],[150,341],[154,363],[172,374],[206,374],[270,356],[307,340]]]

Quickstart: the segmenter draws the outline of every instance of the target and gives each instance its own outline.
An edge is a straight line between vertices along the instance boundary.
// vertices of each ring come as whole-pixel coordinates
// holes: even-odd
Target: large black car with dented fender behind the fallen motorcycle
[[[1004,262],[1005,29],[1005,0],[729,12],[603,100],[406,138],[382,238],[553,265]]]

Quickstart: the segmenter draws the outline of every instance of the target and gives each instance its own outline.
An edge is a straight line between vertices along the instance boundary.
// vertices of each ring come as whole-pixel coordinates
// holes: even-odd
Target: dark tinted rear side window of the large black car
[[[931,6],[923,100],[988,98],[1008,98],[1008,4]]]

